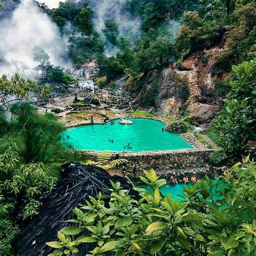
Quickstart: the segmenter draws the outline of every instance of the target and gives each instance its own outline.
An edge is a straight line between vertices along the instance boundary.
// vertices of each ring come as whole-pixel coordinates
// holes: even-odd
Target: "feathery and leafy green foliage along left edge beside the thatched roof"
[[[39,114],[29,103],[14,103],[14,97],[28,100],[30,91],[47,90],[40,91],[35,82],[17,74],[0,78],[1,255],[12,253],[17,222],[38,213],[42,197],[59,178],[61,164],[86,159],[60,142],[65,127],[57,117]]]

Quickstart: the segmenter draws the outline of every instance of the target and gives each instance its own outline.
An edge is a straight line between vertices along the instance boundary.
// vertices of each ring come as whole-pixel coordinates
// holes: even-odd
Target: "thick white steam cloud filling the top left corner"
[[[12,16],[0,21],[0,75],[38,65],[32,59],[34,46],[41,46],[53,65],[67,66],[65,39],[48,15],[32,0],[23,0]],[[2,63],[2,64],[1,64]]]

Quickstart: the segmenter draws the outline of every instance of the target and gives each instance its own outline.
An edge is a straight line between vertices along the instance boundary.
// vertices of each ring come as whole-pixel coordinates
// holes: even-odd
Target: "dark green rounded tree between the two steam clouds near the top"
[[[91,18],[93,15],[93,11],[90,7],[82,8],[82,10],[77,14],[75,18],[75,23],[86,36],[91,38],[91,34],[93,32],[93,25],[91,22]]]

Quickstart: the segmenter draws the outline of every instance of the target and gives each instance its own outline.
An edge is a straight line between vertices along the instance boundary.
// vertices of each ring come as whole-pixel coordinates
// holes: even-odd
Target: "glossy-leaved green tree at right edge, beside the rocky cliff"
[[[248,140],[256,140],[255,79],[256,59],[232,66],[231,91],[213,124],[218,143],[229,156],[240,158],[247,150]]]

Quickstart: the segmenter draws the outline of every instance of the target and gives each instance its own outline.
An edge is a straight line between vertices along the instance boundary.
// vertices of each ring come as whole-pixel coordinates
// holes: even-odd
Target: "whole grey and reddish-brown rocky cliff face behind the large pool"
[[[213,96],[212,75],[218,47],[186,59],[181,65],[154,69],[137,79],[128,79],[125,89],[135,106],[153,107],[157,112],[177,117],[189,111],[195,123],[210,122],[219,110]]]

